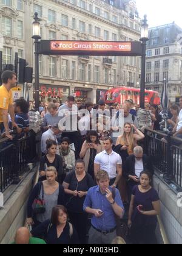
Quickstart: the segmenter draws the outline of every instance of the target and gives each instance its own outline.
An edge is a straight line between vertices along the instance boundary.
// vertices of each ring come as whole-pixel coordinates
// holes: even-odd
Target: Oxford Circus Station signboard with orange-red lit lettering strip
[[[141,55],[141,43],[129,41],[41,40],[39,54],[45,55]]]

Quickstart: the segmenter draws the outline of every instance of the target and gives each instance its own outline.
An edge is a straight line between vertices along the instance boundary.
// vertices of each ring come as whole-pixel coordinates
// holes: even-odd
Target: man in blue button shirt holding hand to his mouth
[[[84,211],[92,214],[92,227],[89,231],[89,244],[111,244],[116,237],[116,217],[124,215],[120,192],[109,187],[109,176],[106,171],[96,174],[98,186],[90,188],[84,201]]]

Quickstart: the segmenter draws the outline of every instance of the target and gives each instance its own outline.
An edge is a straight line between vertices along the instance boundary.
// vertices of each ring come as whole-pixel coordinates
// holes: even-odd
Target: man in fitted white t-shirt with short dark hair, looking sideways
[[[110,186],[116,187],[122,176],[122,160],[120,155],[112,150],[112,138],[103,141],[104,151],[96,155],[94,162],[95,176],[99,170],[107,171]]]

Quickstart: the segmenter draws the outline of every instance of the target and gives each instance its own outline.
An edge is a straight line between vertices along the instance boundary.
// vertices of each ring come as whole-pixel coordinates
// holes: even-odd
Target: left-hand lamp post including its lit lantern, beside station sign
[[[35,110],[39,111],[39,39],[41,39],[41,25],[37,12],[33,19],[32,38],[35,40]]]

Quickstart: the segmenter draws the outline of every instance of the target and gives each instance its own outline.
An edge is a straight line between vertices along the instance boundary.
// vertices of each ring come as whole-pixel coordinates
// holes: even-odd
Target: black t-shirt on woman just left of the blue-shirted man
[[[64,182],[69,184],[69,190],[72,191],[88,191],[89,188],[92,188],[95,186],[95,183],[93,182],[92,177],[90,174],[86,172],[86,176],[83,180],[78,182],[76,178],[75,171],[70,172]],[[79,197],[79,196],[73,196],[72,194],[66,195],[66,207],[70,212],[73,213],[83,213],[83,204],[86,196]]]

